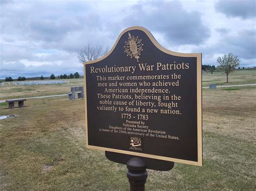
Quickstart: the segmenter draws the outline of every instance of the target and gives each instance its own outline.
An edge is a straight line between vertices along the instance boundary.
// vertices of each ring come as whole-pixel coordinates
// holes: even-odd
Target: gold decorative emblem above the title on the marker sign
[[[127,41],[125,41],[125,53],[127,56],[130,56],[131,58],[134,57],[137,59],[137,62],[139,62],[139,55],[140,52],[143,51],[142,47],[142,39],[139,39],[138,37],[131,36],[130,32],[128,33],[129,38]]]

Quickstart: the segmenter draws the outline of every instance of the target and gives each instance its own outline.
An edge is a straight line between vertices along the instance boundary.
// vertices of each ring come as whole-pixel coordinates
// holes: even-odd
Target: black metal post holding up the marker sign
[[[147,179],[146,164],[140,158],[131,158],[127,161],[127,178],[130,182],[131,191],[144,191]]]

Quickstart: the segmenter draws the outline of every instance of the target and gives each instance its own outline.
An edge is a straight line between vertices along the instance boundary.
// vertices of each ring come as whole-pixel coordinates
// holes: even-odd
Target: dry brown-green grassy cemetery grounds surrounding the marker
[[[203,87],[225,85],[223,72],[203,74]],[[0,100],[66,94],[69,84],[0,87]],[[235,70],[229,83],[256,83],[256,70]],[[86,148],[84,100],[27,100],[25,108],[0,103],[0,190],[128,190],[126,166]],[[256,86],[203,89],[204,166],[174,164],[147,170],[146,189],[255,189]]]

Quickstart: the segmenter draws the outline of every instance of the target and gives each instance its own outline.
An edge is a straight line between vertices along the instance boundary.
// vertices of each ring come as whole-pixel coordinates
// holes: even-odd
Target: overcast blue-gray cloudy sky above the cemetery
[[[83,74],[76,52],[111,48],[130,26],[171,51],[203,53],[204,65],[232,52],[240,66],[256,66],[255,2],[0,0],[0,79]]]

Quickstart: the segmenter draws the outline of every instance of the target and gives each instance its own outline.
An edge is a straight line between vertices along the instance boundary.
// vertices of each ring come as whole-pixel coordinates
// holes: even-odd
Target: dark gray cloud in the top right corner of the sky
[[[256,15],[255,0],[220,0],[215,4],[215,9],[228,17],[245,19]]]

